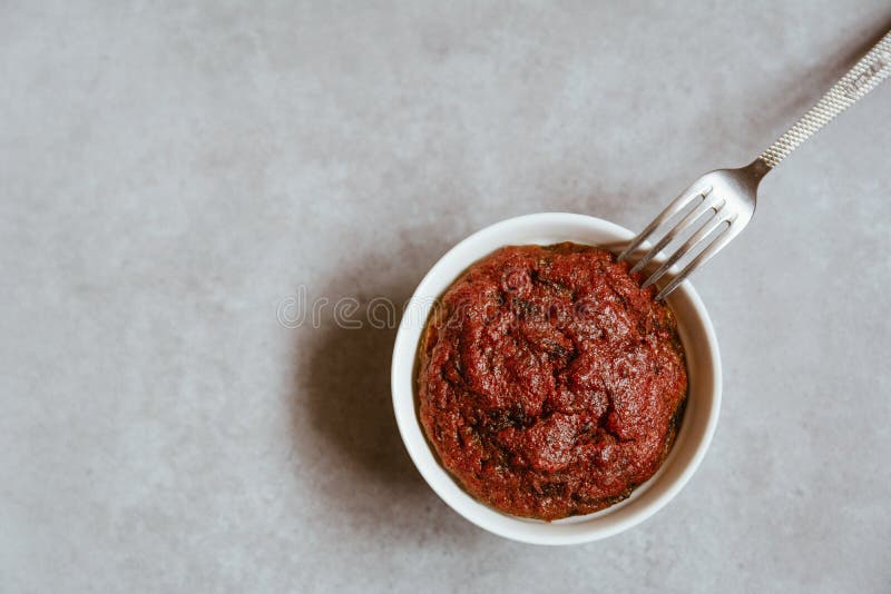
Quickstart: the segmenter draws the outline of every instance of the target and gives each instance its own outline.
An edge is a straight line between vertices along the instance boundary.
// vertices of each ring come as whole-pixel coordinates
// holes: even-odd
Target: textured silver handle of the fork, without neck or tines
[[[891,31],[884,34],[854,67],[820,98],[807,113],[762,152],[757,161],[773,169],[799,145],[811,138],[835,116],[858,102],[891,75]],[[766,174],[767,171],[764,171]]]

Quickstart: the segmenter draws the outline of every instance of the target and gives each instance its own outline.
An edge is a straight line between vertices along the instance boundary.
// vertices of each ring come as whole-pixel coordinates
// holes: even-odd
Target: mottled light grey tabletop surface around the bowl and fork
[[[0,2],[0,591],[888,592],[891,85],[702,271],[715,440],[642,526],[544,548],[442,504],[393,330],[454,241],[639,228],[891,27],[885,0]]]

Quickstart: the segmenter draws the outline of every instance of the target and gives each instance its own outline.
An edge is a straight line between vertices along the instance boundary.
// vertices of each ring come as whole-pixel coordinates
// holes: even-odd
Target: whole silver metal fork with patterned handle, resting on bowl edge
[[[672,227],[662,239],[640,258],[631,273],[642,270],[668,244],[684,231],[689,231],[696,222],[699,226],[674,254],[668,256],[655,273],[649,275],[642,287],[648,287],[659,279],[687,254],[698,254],[672,278],[656,295],[663,299],[672,293],[691,273],[717,254],[731,239],[752,220],[755,214],[757,188],[761,180],[780,161],[789,157],[799,145],[811,138],[839,113],[854,105],[874,89],[879,82],[891,75],[891,31],[860,59],[792,128],[781,136],[757,159],[738,169],[717,169],[702,176],[691,184],[663,210],[658,217],[635,237],[618,259],[628,258],[668,219],[692,207],[679,222]],[[695,201],[698,204],[692,206]],[[711,211],[711,215],[707,212]],[[706,239],[709,239],[705,241]]]

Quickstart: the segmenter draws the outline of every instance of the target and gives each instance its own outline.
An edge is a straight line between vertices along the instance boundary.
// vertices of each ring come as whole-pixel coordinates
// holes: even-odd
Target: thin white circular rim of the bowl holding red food
[[[717,345],[717,338],[715,336],[715,330],[712,325],[712,320],[708,317],[708,313],[703,304],[699,295],[696,293],[696,289],[689,283],[689,280],[685,280],[682,283],[677,289],[675,289],[675,294],[678,296],[683,296],[692,306],[692,310],[695,311],[697,321],[701,326],[702,333],[705,337],[705,350],[704,354],[707,355],[708,362],[711,362],[711,385],[707,394],[699,394],[698,398],[704,399],[702,405],[707,406],[707,417],[705,420],[705,427],[701,432],[699,438],[697,443],[693,444],[694,452],[693,454],[685,461],[685,465],[682,466],[681,472],[676,473],[675,476],[667,483],[667,486],[663,485],[662,492],[656,495],[656,497],[648,503],[644,503],[638,505],[638,509],[633,509],[627,514],[627,517],[621,518],[620,521],[607,523],[604,526],[598,525],[596,522],[590,523],[589,519],[594,519],[596,517],[605,517],[610,515],[611,513],[618,511],[619,508],[624,507],[630,501],[638,497],[643,492],[647,491],[652,485],[656,484],[660,478],[663,482],[669,481],[668,478],[660,477],[663,471],[669,465],[669,459],[673,458],[675,451],[677,449],[677,442],[675,443],[675,447],[672,448],[672,452],[668,455],[668,458],[663,463],[662,467],[657,473],[650,477],[644,485],[639,486],[635,492],[631,494],[630,497],[627,499],[607,507],[600,512],[595,514],[589,514],[586,516],[577,516],[576,518],[568,518],[562,521],[557,521],[554,523],[545,523],[535,519],[521,518],[518,516],[511,516],[499,512],[488,505],[478,502],[473,498],[470,494],[463,491],[460,486],[458,486],[458,492],[456,489],[448,486],[448,483],[443,482],[443,477],[448,479],[449,483],[452,485],[457,485],[457,482],[453,479],[451,474],[442,467],[442,465],[437,459],[435,453],[432,451],[429,442],[427,440],[427,436],[421,427],[420,419],[418,418],[418,403],[417,403],[417,388],[414,386],[414,374],[415,374],[415,359],[417,359],[417,350],[418,344],[420,340],[420,335],[422,333],[422,328],[425,325],[427,316],[432,307],[432,303],[421,303],[420,307],[421,310],[418,313],[420,315],[410,316],[408,315],[408,308],[413,307],[417,304],[417,299],[419,298],[419,294],[421,297],[425,297],[425,289],[428,285],[431,284],[432,279],[435,279],[440,275],[440,270],[447,269],[450,266],[461,264],[461,269],[466,269],[474,261],[479,260],[480,258],[491,254],[493,249],[498,249],[497,247],[490,250],[482,250],[477,253],[469,253],[468,255],[464,254],[467,251],[468,246],[473,246],[474,244],[479,242],[481,239],[484,239],[489,236],[497,237],[498,235],[503,234],[507,230],[510,230],[516,227],[523,227],[530,224],[541,225],[542,227],[546,225],[557,225],[557,226],[577,226],[579,228],[584,228],[590,232],[596,234],[605,234],[610,235],[616,238],[616,240],[627,241],[628,239],[634,237],[634,234],[614,222],[591,217],[588,215],[578,215],[571,212],[537,212],[531,215],[523,215],[519,217],[513,217],[509,219],[505,219],[482,229],[471,234],[467,238],[462,239],[458,244],[456,244],[451,249],[449,249],[443,256],[441,256],[435,264],[428,270],[424,277],[415,287],[414,291],[412,293],[412,297],[407,304],[407,309],[403,311],[402,319],[399,324],[399,329],[396,331],[396,337],[393,344],[393,355],[391,360],[391,392],[392,392],[392,400],[393,400],[393,410],[396,417],[396,426],[399,428],[400,437],[402,438],[402,443],[405,446],[405,449],[409,453],[409,456],[412,459],[412,463],[418,468],[418,472],[424,478],[427,484],[433,489],[433,492],[454,512],[459,515],[468,519],[469,522],[476,524],[477,526],[499,536],[510,538],[513,541],[519,541],[529,544],[545,544],[545,545],[564,545],[564,544],[579,544],[586,543],[591,541],[597,541],[600,538],[606,538],[608,536],[618,534],[624,532],[628,528],[631,528],[639,523],[644,522],[653,514],[662,509],[670,499],[673,499],[681,489],[687,484],[689,478],[695,473],[696,468],[702,463],[703,458],[705,457],[705,453],[708,449],[708,446],[712,442],[712,437],[714,436],[718,414],[721,409],[721,397],[722,397],[722,366],[721,366],[721,356]],[[562,232],[560,234],[562,235]],[[568,232],[566,235],[569,235]],[[566,239],[570,240],[570,239]],[[527,244],[536,244],[536,240],[528,240]],[[578,242],[578,241],[577,241]],[[517,242],[505,241],[500,244],[502,246],[508,245],[518,245]],[[468,257],[470,256],[470,257]],[[454,260],[454,261],[453,261]],[[460,273],[459,273],[460,275]],[[451,277],[448,281],[448,285],[454,281],[458,276]],[[447,285],[447,286],[448,286]],[[444,289],[443,289],[444,290]],[[437,295],[437,298],[441,295]],[[674,294],[673,294],[674,295]],[[672,297],[669,297],[672,299]],[[420,320],[420,327],[410,327],[411,324],[418,324]],[[678,323],[681,324],[682,320],[678,316]],[[685,349],[687,345],[685,345]],[[699,347],[702,348],[702,347]],[[409,360],[410,359],[410,360]],[[409,385],[410,388],[408,394],[405,394],[405,389],[401,386],[404,386],[404,374],[409,374]],[[410,404],[410,406],[409,406]],[[688,403],[689,405],[689,398]],[[409,414],[410,409],[410,414]],[[689,414],[689,413],[687,413]],[[686,415],[685,415],[686,419]],[[684,430],[684,424],[682,423],[682,432]],[[417,435],[420,432],[422,440],[421,445],[419,445]],[[679,435],[678,435],[679,439]],[[431,464],[432,459],[432,464]],[[480,513],[478,506],[482,506],[488,512]],[[496,514],[498,521],[492,521],[492,514]],[[507,518],[507,519],[506,519]],[[551,527],[560,526],[559,523],[562,522],[571,522],[579,525],[578,529],[572,532],[564,532],[560,528],[550,529]],[[536,528],[535,531],[530,532],[529,524],[535,523],[539,524],[541,527]],[[590,524],[588,529],[582,529],[585,524]]]

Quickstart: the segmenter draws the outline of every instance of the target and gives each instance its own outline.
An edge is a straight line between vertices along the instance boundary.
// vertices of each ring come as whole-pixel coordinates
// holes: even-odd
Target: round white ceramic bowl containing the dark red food
[[[605,538],[639,524],[667,504],[703,459],[721,407],[721,359],[712,321],[688,281],[668,297],[687,357],[689,393],[684,420],[659,471],[624,502],[595,514],[550,523],[498,512],[466,493],[440,465],[418,418],[414,364],[424,323],[435,299],[470,265],[502,246],[574,241],[616,247],[633,236],[628,229],[611,222],[565,212],[503,220],[471,235],[440,258],[408,304],[393,347],[393,408],[399,430],[411,459],[432,489],[481,528],[533,544],[576,544]]]

